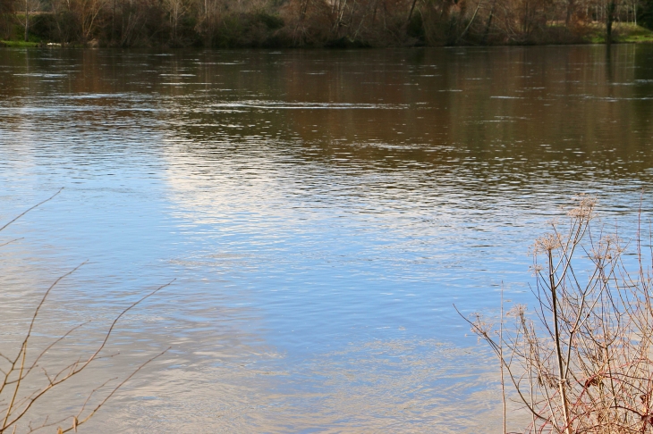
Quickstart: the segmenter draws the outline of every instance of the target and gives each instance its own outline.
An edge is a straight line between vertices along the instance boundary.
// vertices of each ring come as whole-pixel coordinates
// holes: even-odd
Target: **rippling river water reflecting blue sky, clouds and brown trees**
[[[90,321],[53,365],[174,280],[30,413],[170,346],[85,432],[498,431],[453,305],[532,302],[575,194],[625,232],[651,208],[653,46],[7,48],[0,78],[0,222],[64,188],[0,233],[0,352],[84,261],[39,313],[35,345]]]

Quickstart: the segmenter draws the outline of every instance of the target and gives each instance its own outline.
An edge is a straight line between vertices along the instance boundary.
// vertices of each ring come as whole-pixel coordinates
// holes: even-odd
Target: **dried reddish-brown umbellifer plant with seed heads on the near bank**
[[[494,324],[465,319],[530,414],[526,432],[653,432],[650,246],[645,257],[640,223],[626,242],[595,219],[594,197],[575,202],[531,248],[534,313],[514,305],[504,314],[502,297]],[[635,255],[624,255],[628,246]]]

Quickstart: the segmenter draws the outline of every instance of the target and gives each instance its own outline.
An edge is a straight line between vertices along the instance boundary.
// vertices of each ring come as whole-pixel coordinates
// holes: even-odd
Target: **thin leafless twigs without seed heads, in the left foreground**
[[[20,219],[23,215],[30,212],[41,204],[45,204],[53,197],[61,192],[55,193],[54,196],[49,197],[45,201],[32,206],[29,210],[21,213],[12,221],[0,227],[0,232],[5,230],[14,221]],[[20,238],[19,238],[20,239]],[[13,239],[0,246],[6,246],[10,243],[18,241]],[[48,401],[53,401],[57,392],[64,386],[71,386],[71,383],[81,376],[83,371],[93,363],[97,363],[100,359],[112,358],[117,353],[111,353],[108,350],[109,338],[114,331],[118,321],[125,313],[128,313],[136,305],[139,305],[149,296],[153,296],[159,290],[167,287],[170,283],[150,291],[147,295],[141,296],[139,300],[131,303],[122,312],[114,316],[114,320],[108,326],[106,331],[99,336],[98,342],[94,348],[91,348],[86,354],[83,351],[77,350],[72,354],[70,362],[56,360],[55,357],[48,356],[55,349],[62,346],[74,349],[79,345],[77,340],[81,340],[79,331],[88,322],[81,323],[72,329],[66,331],[64,334],[57,338],[52,338],[51,341],[46,342],[43,339],[43,332],[38,331],[38,313],[45,307],[47,296],[50,295],[52,290],[59,282],[70,276],[73,272],[79,270],[83,265],[78,265],[72,271],[68,271],[56,279],[47,288],[43,296],[40,297],[38,305],[34,309],[29,326],[25,330],[24,338],[22,338],[17,346],[12,345],[11,342],[0,342],[0,434],[16,432],[34,432],[40,430],[56,430],[59,434],[64,432],[75,431],[82,424],[89,421],[106,402],[114,396],[115,392],[122,388],[123,385],[131,379],[140,369],[145,365],[163,355],[165,351],[150,357],[147,361],[138,364],[125,378],[123,379],[95,379],[89,383],[89,388],[78,392],[85,395],[85,399],[78,408],[74,408],[74,404],[68,405],[65,412],[70,413],[57,413],[47,415]],[[0,325],[3,321],[0,321]],[[34,340],[39,335],[38,342]],[[77,340],[76,340],[77,339]],[[97,381],[96,381],[97,380]],[[87,380],[88,381],[88,380]],[[94,384],[96,383],[96,384]],[[69,398],[71,396],[68,396]],[[43,417],[45,415],[45,417]]]

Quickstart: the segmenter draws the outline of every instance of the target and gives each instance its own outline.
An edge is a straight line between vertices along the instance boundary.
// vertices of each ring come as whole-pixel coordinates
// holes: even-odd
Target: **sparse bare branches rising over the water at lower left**
[[[61,191],[62,190],[59,190],[55,193],[55,195],[47,198],[39,204],[32,206],[24,213],[21,213],[12,221],[9,221],[3,227],[1,227],[0,231],[6,229],[14,221],[17,221],[23,215],[29,213],[34,208],[53,199],[55,196],[61,193]],[[18,239],[13,239],[11,241],[5,242],[0,246],[6,246],[7,244],[17,241]],[[30,326],[28,330],[25,331],[25,336],[21,341],[21,345],[18,351],[14,351],[13,354],[8,354],[4,352],[2,350],[2,346],[0,346],[0,434],[22,431],[33,432],[47,428],[54,430],[55,427],[57,433],[64,433],[71,430],[77,431],[77,428],[80,425],[86,423],[90,420],[91,417],[98,413],[98,410],[103,405],[105,405],[112,396],[114,396],[115,392],[121,388],[126,381],[130,380],[131,377],[133,377],[145,365],[152,362],[167,351],[166,349],[164,352],[151,357],[144,363],[140,363],[136,369],[131,371],[131,373],[123,380],[119,380],[117,384],[115,384],[115,381],[118,381],[117,379],[111,379],[107,380],[98,388],[89,390],[87,392],[86,400],[76,413],[57,414],[55,417],[47,415],[45,421],[40,422],[37,426],[33,426],[32,421],[26,420],[30,418],[30,410],[32,410],[34,407],[37,407],[39,404],[46,404],[48,397],[52,395],[55,389],[64,383],[68,383],[73,379],[73,377],[80,374],[81,371],[86,370],[91,363],[98,361],[103,356],[103,350],[106,350],[108,340],[114,331],[116,323],[123,317],[125,313],[130,311],[136,305],[139,305],[149,296],[153,296],[159,290],[169,286],[172,283],[170,282],[159,288],[156,288],[117,314],[114,317],[114,321],[104,332],[102,337],[98,340],[97,346],[89,356],[80,357],[72,363],[64,363],[64,368],[56,369],[55,372],[48,372],[47,366],[44,365],[44,356],[55,346],[61,344],[65,338],[71,337],[72,332],[78,330],[84,324],[73,327],[64,335],[60,336],[59,338],[55,338],[55,340],[50,342],[47,346],[34,346],[33,337],[35,328],[37,326],[38,313],[46,303],[47,296],[56,287],[56,285],[61,280],[64,280],[73,272],[77,271],[83,264],[84,263],[81,263],[81,265],[75,267],[72,271],[65,273],[57,280],[55,280],[49,288],[47,288],[46,292],[40,298],[40,302],[38,303],[34,313],[31,316]],[[0,342],[0,345],[1,344],[2,342]],[[41,381],[35,381],[39,376],[41,376]],[[43,381],[44,379],[42,376],[45,376],[45,381]],[[114,382],[113,386],[110,385],[112,381]],[[98,402],[90,405],[92,399]]]

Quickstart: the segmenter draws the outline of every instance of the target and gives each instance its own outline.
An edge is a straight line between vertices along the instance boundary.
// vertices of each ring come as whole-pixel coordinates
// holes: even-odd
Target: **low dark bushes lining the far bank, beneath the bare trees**
[[[653,0],[652,0],[653,1]],[[321,15],[320,15],[321,16]],[[23,15],[23,20],[25,20]],[[17,16],[17,18],[20,18]],[[134,34],[114,24],[110,16],[96,28],[80,32],[73,24],[59,29],[61,17],[52,13],[29,15],[21,25],[4,32],[0,26],[0,46],[90,48],[387,48],[420,46],[568,46],[653,43],[653,23],[649,21],[538,21],[512,29],[513,21],[497,23],[490,13],[485,22],[452,15],[448,21],[430,22],[413,16],[408,21],[394,17],[388,21],[365,21],[355,29],[336,29],[327,15],[312,23],[293,21],[293,17],[276,13],[225,16],[213,27],[200,21],[180,23],[179,28],[144,27]],[[401,18],[401,17],[400,17]],[[435,19],[434,19],[435,20]],[[543,20],[543,19],[542,19]],[[19,20],[20,21],[20,20]],[[323,22],[324,21],[324,22]],[[507,24],[506,24],[507,23]],[[0,22],[0,24],[2,24]],[[6,24],[6,23],[5,23]],[[219,24],[219,25],[218,25]],[[227,25],[228,24],[228,25]],[[472,25],[473,24],[473,25]],[[145,25],[145,24],[144,24]],[[163,25],[163,24],[162,24]],[[204,26],[204,27],[202,27]],[[5,26],[6,27],[6,26]],[[609,35],[609,36],[608,36]]]

